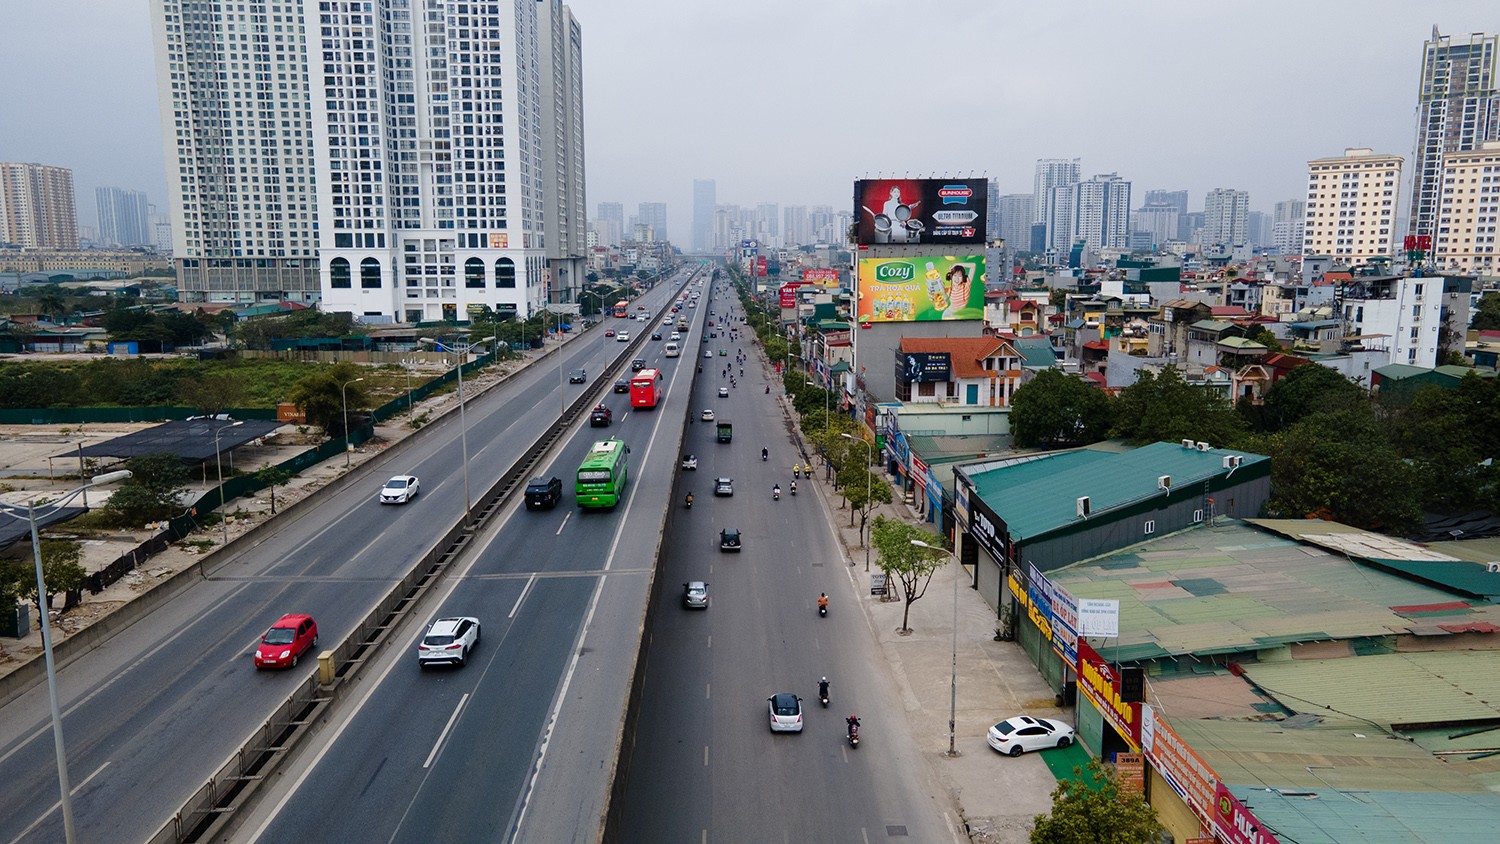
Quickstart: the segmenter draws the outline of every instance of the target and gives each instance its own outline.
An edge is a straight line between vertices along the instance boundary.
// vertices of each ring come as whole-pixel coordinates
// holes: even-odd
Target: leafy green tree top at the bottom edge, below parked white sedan
[[[1072,780],[1052,790],[1052,814],[1034,820],[1032,844],[1142,844],[1164,828],[1138,795],[1120,793],[1119,780],[1096,759],[1072,769]]]

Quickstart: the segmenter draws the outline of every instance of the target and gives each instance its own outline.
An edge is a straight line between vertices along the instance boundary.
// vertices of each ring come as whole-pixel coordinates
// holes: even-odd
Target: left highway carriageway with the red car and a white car
[[[669,286],[642,298],[652,313],[664,310]],[[564,349],[562,367],[584,366],[592,375],[615,354],[618,345],[596,330]],[[476,490],[555,421],[556,379],[554,366],[534,366],[470,400]],[[582,387],[562,390],[572,400]],[[60,670],[80,840],[140,841],[153,834],[315,670],[308,660],[286,673],[255,672],[250,654],[260,634],[282,613],[308,612],[318,619],[322,645],[338,642],[453,522],[464,508],[458,418],[448,414],[396,459],[356,469],[350,487],[315,510],[279,519],[212,577]],[[405,507],[378,505],[376,490],[399,472],[418,475],[422,495]],[[514,556],[504,547],[494,553]],[[504,603],[512,588],[516,583],[496,577],[488,600]],[[572,612],[586,589],[549,580],[534,588],[526,606]],[[520,633],[526,624],[518,624]],[[506,625],[490,627],[480,655],[504,637]],[[0,709],[0,843],[63,838],[45,685]]]

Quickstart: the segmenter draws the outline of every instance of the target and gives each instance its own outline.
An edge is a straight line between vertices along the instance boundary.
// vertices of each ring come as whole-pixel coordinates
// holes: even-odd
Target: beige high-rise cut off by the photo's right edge
[[[1500,219],[1500,141],[1443,156],[1432,261],[1440,270],[1494,273]]]

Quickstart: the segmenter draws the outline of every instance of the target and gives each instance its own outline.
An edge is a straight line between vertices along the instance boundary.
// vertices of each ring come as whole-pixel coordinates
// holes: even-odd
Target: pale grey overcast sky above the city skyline
[[[1410,163],[1422,42],[1500,30],[1494,0],[576,0],[588,210],[852,204],[864,175],[994,177],[1038,157],[1186,189],[1302,195],[1306,160]],[[146,190],[162,211],[148,0],[0,0],[0,160]],[[1402,207],[1406,196],[1402,196]]]

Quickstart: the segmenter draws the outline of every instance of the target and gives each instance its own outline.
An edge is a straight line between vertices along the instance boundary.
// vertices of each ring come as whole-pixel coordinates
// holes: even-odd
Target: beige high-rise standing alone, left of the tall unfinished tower
[[[1359,147],[1310,160],[1302,253],[1344,262],[1394,255],[1404,160]]]

